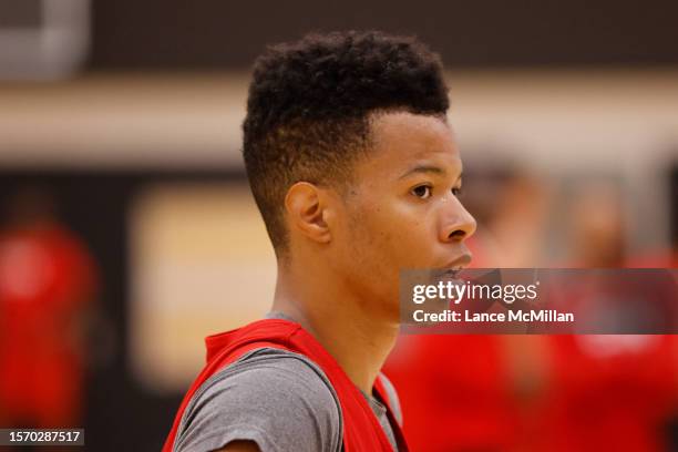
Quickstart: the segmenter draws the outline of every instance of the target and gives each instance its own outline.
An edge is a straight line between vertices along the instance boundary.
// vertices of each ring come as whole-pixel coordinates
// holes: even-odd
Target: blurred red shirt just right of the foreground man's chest
[[[496,336],[403,336],[384,373],[398,390],[414,451],[510,450],[518,436]]]

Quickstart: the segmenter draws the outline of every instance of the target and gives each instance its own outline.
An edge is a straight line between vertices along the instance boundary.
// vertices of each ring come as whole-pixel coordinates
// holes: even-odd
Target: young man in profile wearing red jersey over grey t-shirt
[[[257,60],[244,156],[273,242],[271,312],[207,338],[165,450],[407,450],[380,369],[399,271],[461,268],[475,229],[439,58],[410,38],[310,34]]]

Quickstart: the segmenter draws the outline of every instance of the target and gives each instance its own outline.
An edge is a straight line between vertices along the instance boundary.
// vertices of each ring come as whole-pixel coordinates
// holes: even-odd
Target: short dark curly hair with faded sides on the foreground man
[[[373,113],[448,107],[440,58],[415,38],[347,31],[269,47],[254,66],[243,155],[276,254],[288,242],[288,188],[306,181],[346,193]]]

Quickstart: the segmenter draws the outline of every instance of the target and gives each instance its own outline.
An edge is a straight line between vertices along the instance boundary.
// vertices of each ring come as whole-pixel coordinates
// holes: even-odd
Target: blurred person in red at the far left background
[[[7,207],[0,228],[0,425],[78,427],[94,261],[58,218],[48,191],[19,189]]]

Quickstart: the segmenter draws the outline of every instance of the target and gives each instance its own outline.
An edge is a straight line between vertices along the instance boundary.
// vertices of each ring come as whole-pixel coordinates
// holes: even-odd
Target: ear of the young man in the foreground
[[[314,242],[327,244],[331,233],[327,223],[331,216],[325,189],[308,182],[297,182],[285,196],[285,209],[290,227],[295,227]]]

